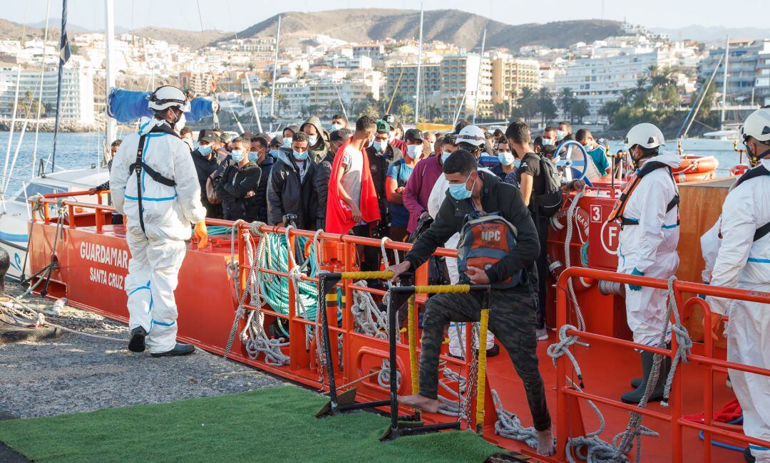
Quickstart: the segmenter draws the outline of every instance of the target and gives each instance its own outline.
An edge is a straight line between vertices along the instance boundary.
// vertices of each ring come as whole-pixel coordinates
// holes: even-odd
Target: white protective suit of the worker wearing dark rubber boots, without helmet
[[[662,153],[647,162],[657,161],[677,168],[681,159],[673,153]],[[618,272],[630,274],[634,268],[645,276],[669,278],[679,265],[676,247],[679,243],[679,208],[668,213],[669,202],[679,190],[667,168],[644,175],[631,193],[623,216],[638,220],[638,225],[624,225],[618,246]],[[634,342],[652,345],[660,338],[666,320],[668,291],[642,286],[639,291],[626,288],[625,304],[628,328]],[[671,330],[668,331],[668,339]],[[667,339],[667,340],[668,340]]]

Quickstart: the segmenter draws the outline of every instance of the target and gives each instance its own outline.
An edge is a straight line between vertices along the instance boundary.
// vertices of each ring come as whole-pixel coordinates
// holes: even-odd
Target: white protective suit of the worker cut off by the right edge
[[[770,159],[762,165],[770,170]],[[770,222],[770,175],[733,188],[721,214],[721,246],[711,285],[770,291],[770,235],[754,241],[757,228]],[[727,359],[770,368],[770,304],[706,298],[711,311],[728,314]],[[746,435],[770,441],[770,378],[729,370],[732,390],[743,408]],[[756,461],[770,461],[770,448],[749,445]]]

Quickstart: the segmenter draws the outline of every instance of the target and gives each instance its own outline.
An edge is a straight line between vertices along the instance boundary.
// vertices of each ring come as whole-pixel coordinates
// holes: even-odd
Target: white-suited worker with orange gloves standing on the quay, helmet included
[[[126,216],[131,251],[126,277],[129,351],[186,355],[195,348],[176,342],[174,290],[191,224],[196,225],[199,247],[206,245],[206,208],[189,149],[179,138],[190,108],[187,96],[163,85],[152,92],[149,108],[155,115],[123,139],[109,178],[112,203]]]

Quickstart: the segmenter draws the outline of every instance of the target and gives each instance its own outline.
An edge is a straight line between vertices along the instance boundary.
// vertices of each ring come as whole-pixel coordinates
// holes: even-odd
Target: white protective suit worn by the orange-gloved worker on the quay
[[[195,165],[185,142],[169,133],[149,133],[162,124],[167,123],[145,119],[140,132],[126,135],[109,176],[112,204],[126,216],[126,241],[131,251],[126,277],[129,329],[145,328],[146,345],[153,354],[176,346],[174,290],[185,258],[185,241],[190,238],[190,224],[206,218]],[[136,174],[129,175],[142,134],[146,134],[146,165],[176,182],[176,187],[162,185],[142,171],[145,232],[139,225]]]

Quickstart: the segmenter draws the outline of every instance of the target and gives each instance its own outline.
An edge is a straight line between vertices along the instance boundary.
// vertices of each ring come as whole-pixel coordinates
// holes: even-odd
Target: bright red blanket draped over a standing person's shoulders
[[[352,138],[351,138],[352,140]],[[339,175],[342,166],[343,152],[350,145],[348,140],[340,146],[334,156],[332,165],[332,175],[329,179],[329,195],[326,198],[326,232],[346,234],[350,232],[357,222],[353,220],[350,207],[342,200],[340,189],[337,184],[337,175]],[[361,172],[361,220],[371,223],[380,220],[380,206],[377,204],[377,192],[374,190],[374,181],[372,173],[369,170],[369,156],[365,151],[361,152],[363,156],[363,172]],[[355,198],[353,198],[355,199]]]

